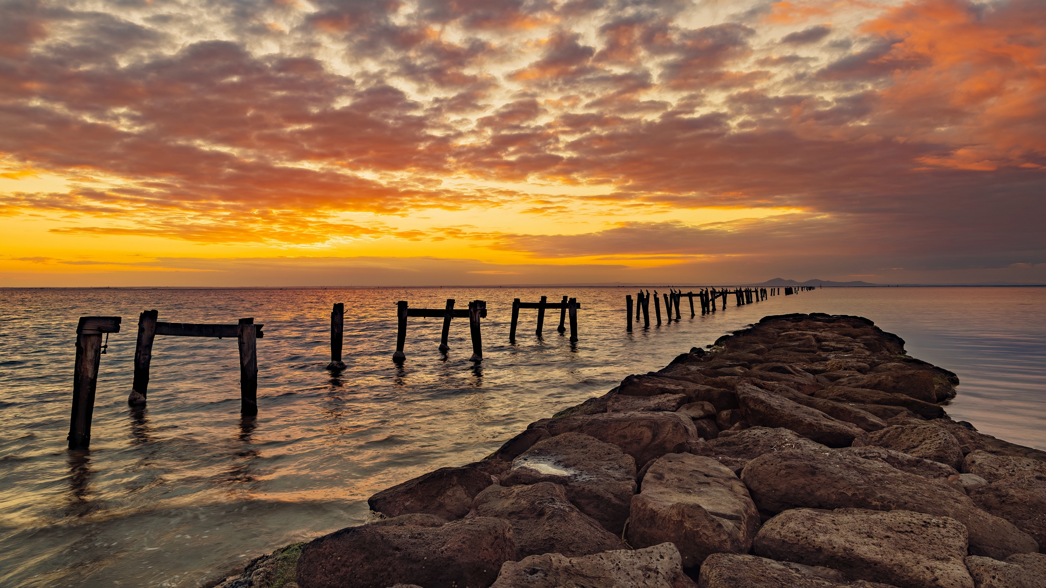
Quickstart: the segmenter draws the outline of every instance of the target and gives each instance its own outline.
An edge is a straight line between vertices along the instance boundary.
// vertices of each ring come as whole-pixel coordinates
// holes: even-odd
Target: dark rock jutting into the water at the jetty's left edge
[[[371,511],[389,517],[428,513],[447,520],[469,513],[472,499],[491,485],[491,474],[479,468],[440,468],[367,499]]]

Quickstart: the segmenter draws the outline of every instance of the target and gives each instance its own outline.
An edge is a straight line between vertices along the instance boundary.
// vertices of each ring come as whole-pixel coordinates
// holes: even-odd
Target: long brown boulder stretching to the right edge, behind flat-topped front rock
[[[789,508],[913,511],[967,525],[970,552],[1003,559],[1039,550],[1029,535],[980,510],[946,480],[902,472],[886,463],[829,451],[787,450],[752,459],[741,474],[755,505]]]

